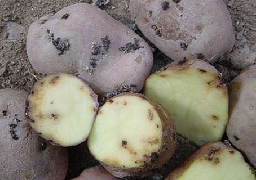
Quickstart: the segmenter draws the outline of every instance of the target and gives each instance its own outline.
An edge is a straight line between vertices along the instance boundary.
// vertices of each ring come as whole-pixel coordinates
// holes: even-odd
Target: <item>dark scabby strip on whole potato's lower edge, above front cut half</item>
[[[112,97],[119,95],[121,93],[125,92],[135,92],[136,91],[136,84],[128,84],[128,85],[122,85],[120,88],[115,89],[112,92],[106,93],[105,95],[101,96],[100,98],[100,105],[103,105],[105,101],[111,99]]]

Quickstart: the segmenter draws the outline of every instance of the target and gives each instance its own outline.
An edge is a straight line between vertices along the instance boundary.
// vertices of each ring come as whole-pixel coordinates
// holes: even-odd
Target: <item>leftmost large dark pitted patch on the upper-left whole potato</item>
[[[49,29],[46,30],[46,33],[50,35],[52,45],[59,51],[58,56],[63,55],[65,51],[70,50],[70,42],[67,38],[54,38],[54,33],[51,33]]]

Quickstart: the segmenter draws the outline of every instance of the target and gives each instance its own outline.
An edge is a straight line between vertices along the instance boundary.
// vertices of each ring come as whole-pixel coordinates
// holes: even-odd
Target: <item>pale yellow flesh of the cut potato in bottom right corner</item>
[[[195,159],[176,180],[255,180],[255,175],[239,151],[222,149],[212,160]]]

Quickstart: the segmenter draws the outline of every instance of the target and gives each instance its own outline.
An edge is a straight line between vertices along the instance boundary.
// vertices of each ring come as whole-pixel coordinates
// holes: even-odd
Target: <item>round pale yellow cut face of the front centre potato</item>
[[[162,144],[162,123],[154,107],[138,96],[119,96],[101,107],[88,146],[101,163],[140,167]]]

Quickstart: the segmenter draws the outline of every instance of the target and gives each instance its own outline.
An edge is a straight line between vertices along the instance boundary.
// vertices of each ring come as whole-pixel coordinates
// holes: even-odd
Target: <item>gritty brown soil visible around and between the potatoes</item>
[[[236,44],[233,51],[222,57],[214,66],[222,72],[225,82],[229,84],[242,68],[254,64],[256,60],[256,1],[224,1],[235,26]],[[63,7],[80,2],[92,3],[90,0],[0,0],[0,89],[30,91],[34,82],[42,75],[36,73],[28,61],[26,38],[29,25],[48,13],[55,13]],[[129,0],[110,0],[100,8],[147,40],[136,27],[135,21],[130,18],[128,4]],[[147,42],[154,52],[155,63],[151,71],[153,73],[172,60],[148,40]],[[174,157],[153,176],[145,179],[164,179],[173,168],[198,148],[182,137],[178,137],[178,142]],[[90,155],[86,143],[82,143],[69,148],[69,164],[67,179],[77,177],[83,169],[98,162]]]

